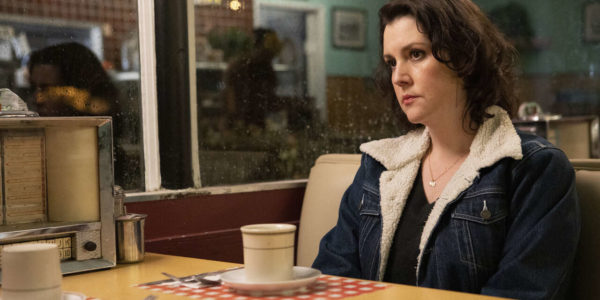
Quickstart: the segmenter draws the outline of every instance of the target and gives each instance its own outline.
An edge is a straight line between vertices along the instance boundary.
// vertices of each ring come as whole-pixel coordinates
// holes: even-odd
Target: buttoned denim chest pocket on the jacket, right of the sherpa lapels
[[[504,193],[488,188],[466,194],[451,214],[460,260],[477,273],[495,270],[502,258],[507,207]]]

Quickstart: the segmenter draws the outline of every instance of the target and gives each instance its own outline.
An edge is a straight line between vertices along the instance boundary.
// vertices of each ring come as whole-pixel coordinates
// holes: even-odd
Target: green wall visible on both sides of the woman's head
[[[263,0],[282,3],[300,1],[325,8],[325,70],[328,76],[371,76],[380,55],[378,37],[379,8],[387,0]],[[474,0],[484,12],[510,2],[528,12],[534,38],[541,46],[521,53],[525,73],[580,73],[594,69],[600,74],[600,43],[583,41],[583,9],[586,3],[600,0]],[[364,49],[335,48],[331,39],[331,11],[334,7],[362,9],[367,15]]]

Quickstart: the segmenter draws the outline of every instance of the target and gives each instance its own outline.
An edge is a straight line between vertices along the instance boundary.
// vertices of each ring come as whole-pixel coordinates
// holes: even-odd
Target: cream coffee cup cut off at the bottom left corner
[[[2,300],[60,300],[61,284],[55,244],[16,244],[2,248]]]

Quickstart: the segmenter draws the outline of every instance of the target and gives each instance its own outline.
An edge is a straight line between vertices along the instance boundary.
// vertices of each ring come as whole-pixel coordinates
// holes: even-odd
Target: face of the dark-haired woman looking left
[[[466,103],[462,79],[431,52],[431,41],[412,16],[383,32],[383,59],[390,67],[400,107],[411,123],[428,127],[461,122]]]

